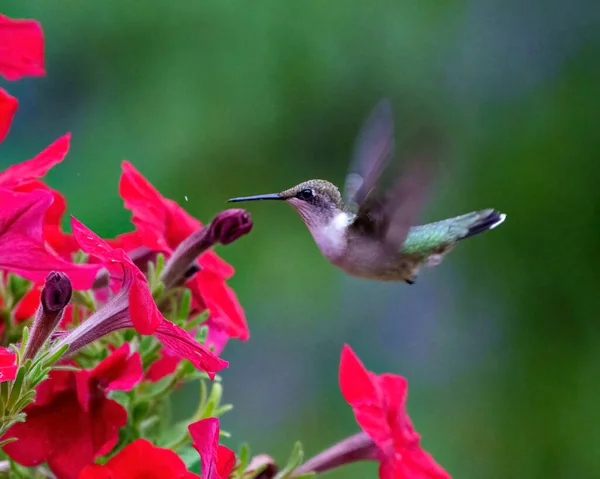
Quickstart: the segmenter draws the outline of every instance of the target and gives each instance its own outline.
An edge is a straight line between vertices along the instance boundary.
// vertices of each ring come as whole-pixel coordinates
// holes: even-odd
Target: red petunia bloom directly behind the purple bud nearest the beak
[[[175,201],[164,198],[131,163],[123,162],[122,168],[119,194],[125,207],[133,213],[132,222],[139,241],[153,251],[170,255],[202,224]],[[130,235],[127,238],[130,239]],[[195,306],[199,311],[209,310],[209,324],[218,326],[231,338],[247,340],[249,331],[244,311],[235,292],[226,284],[233,275],[233,268],[211,250],[200,255],[198,264],[201,270],[186,283]]]

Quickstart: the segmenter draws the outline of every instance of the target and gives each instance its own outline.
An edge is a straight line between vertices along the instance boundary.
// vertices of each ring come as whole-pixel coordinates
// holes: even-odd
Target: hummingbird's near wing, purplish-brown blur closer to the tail
[[[420,142],[428,141],[419,136]],[[422,146],[426,146],[425,150]],[[381,241],[389,254],[400,251],[427,197],[437,163],[430,146],[421,144],[419,153],[405,163],[403,174],[389,190],[371,188],[350,225],[357,233]]]

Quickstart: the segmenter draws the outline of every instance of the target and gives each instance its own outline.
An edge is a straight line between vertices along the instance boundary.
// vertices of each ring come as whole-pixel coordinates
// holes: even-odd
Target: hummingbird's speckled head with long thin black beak
[[[308,180],[280,193],[232,198],[228,201],[280,200],[292,205],[309,227],[328,224],[343,210],[342,195],[325,180]]]

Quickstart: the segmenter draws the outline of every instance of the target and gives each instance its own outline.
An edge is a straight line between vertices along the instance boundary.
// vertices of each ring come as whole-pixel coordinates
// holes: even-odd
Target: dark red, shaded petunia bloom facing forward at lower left
[[[3,447],[26,467],[44,462],[61,479],[75,479],[94,459],[117,443],[127,411],[108,399],[112,390],[129,391],[142,378],[139,353],[124,344],[91,371],[53,371],[37,388],[35,403],[25,408],[27,420],[11,427]]]

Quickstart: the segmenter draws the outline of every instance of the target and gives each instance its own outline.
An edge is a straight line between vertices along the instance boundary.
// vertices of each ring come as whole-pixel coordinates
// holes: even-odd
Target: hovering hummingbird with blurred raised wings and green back
[[[394,145],[391,105],[381,101],[356,142],[344,197],[325,180],[308,180],[280,193],[228,201],[278,200],[300,214],[323,255],[346,273],[414,284],[422,266],[438,265],[458,241],[501,224],[494,209],[413,226],[431,182],[434,161],[417,157],[388,189],[381,176]]]

